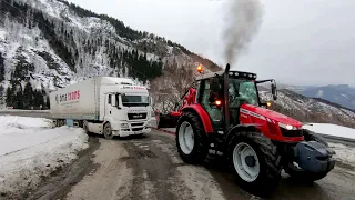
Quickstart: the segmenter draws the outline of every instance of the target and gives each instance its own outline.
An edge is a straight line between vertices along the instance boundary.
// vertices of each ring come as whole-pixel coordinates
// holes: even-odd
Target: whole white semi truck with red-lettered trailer
[[[156,123],[151,102],[148,89],[131,79],[98,77],[51,92],[50,113],[57,127],[82,127],[112,139],[150,132]]]

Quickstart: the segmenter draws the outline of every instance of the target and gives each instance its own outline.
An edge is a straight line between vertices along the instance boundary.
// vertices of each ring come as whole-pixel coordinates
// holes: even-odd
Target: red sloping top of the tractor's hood
[[[274,121],[276,123],[283,123],[285,126],[293,126],[300,129],[302,127],[302,123],[293,118],[290,118],[285,114],[262,108],[262,107],[256,107],[252,104],[242,104],[241,109],[244,109],[248,112],[254,112],[255,114],[262,116],[265,118],[265,120]],[[252,113],[253,114],[253,113]]]

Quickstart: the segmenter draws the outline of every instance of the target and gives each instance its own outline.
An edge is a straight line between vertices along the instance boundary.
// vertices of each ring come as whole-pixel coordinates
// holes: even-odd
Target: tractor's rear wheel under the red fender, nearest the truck
[[[206,134],[197,114],[183,112],[176,128],[176,146],[186,163],[201,163],[207,156]]]

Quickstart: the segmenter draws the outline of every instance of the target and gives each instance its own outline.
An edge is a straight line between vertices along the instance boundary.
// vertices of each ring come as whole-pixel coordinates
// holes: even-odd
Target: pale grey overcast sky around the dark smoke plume
[[[221,30],[233,0],[70,0],[225,66]],[[232,69],[291,84],[355,86],[355,0],[261,0],[263,23]]]

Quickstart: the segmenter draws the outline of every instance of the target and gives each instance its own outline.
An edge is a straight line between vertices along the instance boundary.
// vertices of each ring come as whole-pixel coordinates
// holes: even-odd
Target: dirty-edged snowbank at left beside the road
[[[43,177],[89,147],[82,129],[50,126],[43,118],[0,116],[1,194],[34,189]]]

